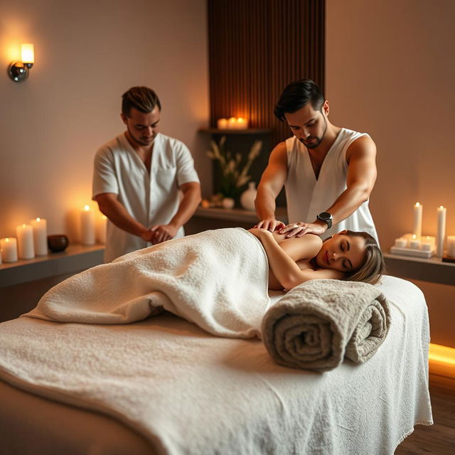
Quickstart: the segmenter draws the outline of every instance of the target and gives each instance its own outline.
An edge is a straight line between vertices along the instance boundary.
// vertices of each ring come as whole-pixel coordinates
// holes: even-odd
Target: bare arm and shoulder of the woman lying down
[[[297,284],[310,279],[339,279],[343,276],[341,272],[331,269],[301,270],[296,264],[299,259],[310,259],[321,250],[322,240],[316,235],[305,235],[304,237],[289,239],[279,245],[274,239],[272,232],[268,230],[250,229],[250,232],[261,241],[269,259],[269,266],[284,289],[292,289]],[[289,245],[291,244],[288,244],[288,242],[291,240],[293,245],[290,248]],[[296,242],[299,242],[299,247],[296,246]],[[282,247],[291,250],[290,253],[293,257],[288,255]]]

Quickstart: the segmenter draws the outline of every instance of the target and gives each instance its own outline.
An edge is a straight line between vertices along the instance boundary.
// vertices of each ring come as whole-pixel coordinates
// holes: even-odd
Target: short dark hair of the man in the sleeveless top
[[[284,122],[284,114],[293,114],[308,102],[311,102],[313,109],[319,111],[324,102],[321,89],[310,79],[295,80],[283,90],[275,105],[274,114]]]

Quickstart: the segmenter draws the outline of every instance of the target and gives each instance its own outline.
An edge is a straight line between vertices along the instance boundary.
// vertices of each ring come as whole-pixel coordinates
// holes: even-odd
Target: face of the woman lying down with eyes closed
[[[316,255],[316,264],[323,269],[333,269],[349,273],[360,269],[365,260],[365,240],[338,232],[323,242]]]

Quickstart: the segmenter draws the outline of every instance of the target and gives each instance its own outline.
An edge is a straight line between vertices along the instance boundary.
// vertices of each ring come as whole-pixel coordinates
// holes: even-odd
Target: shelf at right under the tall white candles
[[[442,262],[440,257],[392,255],[384,253],[387,274],[424,282],[455,286],[455,263]]]

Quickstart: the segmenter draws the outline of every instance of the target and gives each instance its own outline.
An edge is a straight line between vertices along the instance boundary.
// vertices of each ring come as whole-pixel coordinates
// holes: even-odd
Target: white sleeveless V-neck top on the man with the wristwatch
[[[287,181],[284,187],[289,223],[312,223],[316,215],[327,210],[346,190],[346,150],[355,139],[367,135],[342,128],[326,154],[317,180],[306,146],[296,137],[287,139]],[[326,230],[322,237],[329,237],[343,229],[365,231],[378,240],[368,200],[346,220]]]

